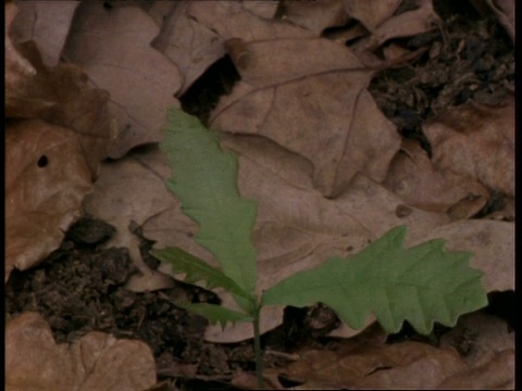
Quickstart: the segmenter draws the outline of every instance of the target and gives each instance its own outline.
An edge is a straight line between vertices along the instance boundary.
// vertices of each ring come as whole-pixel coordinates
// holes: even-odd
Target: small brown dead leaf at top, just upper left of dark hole
[[[161,33],[152,46],[178,66],[183,76],[183,85],[177,92],[181,96],[211,64],[225,55],[225,49],[215,31],[190,17],[192,2],[167,3],[175,7],[165,15]],[[152,11],[156,9],[149,12]]]

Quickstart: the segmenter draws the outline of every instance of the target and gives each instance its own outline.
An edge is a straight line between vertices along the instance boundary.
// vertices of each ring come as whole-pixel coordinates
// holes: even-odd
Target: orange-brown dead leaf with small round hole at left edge
[[[5,165],[8,278],[60,245],[91,191],[91,173],[74,134],[38,119],[8,124]]]

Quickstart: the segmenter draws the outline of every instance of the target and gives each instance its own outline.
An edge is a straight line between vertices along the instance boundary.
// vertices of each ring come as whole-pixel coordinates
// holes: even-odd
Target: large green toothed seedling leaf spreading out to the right
[[[306,306],[322,302],[355,329],[374,313],[387,332],[408,320],[421,333],[434,321],[453,326],[487,304],[483,273],[471,253],[446,252],[436,239],[402,249],[407,227],[396,227],[349,260],[334,257],[268,289],[262,305]]]

